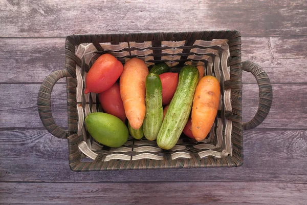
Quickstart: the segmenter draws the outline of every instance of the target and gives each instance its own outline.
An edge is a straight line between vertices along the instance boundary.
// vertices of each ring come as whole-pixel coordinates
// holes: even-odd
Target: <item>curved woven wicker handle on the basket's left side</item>
[[[65,69],[52,72],[46,77],[45,80],[43,80],[39,88],[37,98],[38,113],[43,126],[45,126],[45,128],[51,134],[58,138],[66,138],[68,136],[68,132],[55,124],[51,112],[50,98],[53,86],[56,84],[56,82],[62,77],[67,77],[68,75],[69,72]]]

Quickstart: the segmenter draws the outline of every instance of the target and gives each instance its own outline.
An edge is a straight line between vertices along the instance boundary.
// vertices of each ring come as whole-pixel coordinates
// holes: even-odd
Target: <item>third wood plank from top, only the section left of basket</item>
[[[37,108],[39,87],[39,84],[0,84],[0,128],[43,127]],[[55,122],[59,126],[67,127],[66,84],[54,86],[51,108]]]

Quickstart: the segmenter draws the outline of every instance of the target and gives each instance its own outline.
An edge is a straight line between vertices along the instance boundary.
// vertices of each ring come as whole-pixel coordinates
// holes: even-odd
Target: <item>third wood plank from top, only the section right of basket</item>
[[[274,84],[273,103],[267,118],[257,128],[306,129],[307,85]],[[244,84],[242,120],[249,121],[256,114],[259,102],[257,84]]]

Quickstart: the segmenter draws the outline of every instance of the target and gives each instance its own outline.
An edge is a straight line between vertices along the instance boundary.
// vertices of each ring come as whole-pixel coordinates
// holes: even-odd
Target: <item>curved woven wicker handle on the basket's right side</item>
[[[257,113],[249,122],[243,123],[243,129],[249,130],[257,127],[266,119],[272,105],[273,90],[269,76],[259,65],[247,60],[242,63],[242,69],[244,71],[251,72],[256,78],[259,86],[260,99]]]

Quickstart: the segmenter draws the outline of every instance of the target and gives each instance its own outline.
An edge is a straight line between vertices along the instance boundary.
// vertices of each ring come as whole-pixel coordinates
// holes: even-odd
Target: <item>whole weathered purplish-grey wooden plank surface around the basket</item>
[[[307,2],[0,0],[0,203],[307,204]],[[267,119],[244,132],[238,168],[73,172],[67,140],[42,126],[40,84],[63,69],[65,36],[237,29],[243,60],[268,73]],[[243,120],[258,105],[243,74]],[[67,128],[65,80],[52,93]]]

